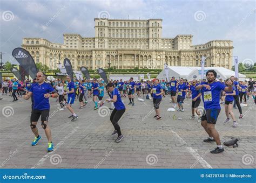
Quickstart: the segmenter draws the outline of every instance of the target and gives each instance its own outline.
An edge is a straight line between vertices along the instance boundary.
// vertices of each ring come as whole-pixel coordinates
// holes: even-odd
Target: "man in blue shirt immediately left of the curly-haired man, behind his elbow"
[[[190,119],[194,119],[196,118],[194,116],[194,112],[197,113],[198,115],[198,121],[197,122],[201,122],[201,114],[198,112],[197,108],[200,105],[201,102],[201,90],[196,90],[196,87],[198,86],[197,84],[197,80],[194,79],[191,82],[191,86],[190,86],[190,94],[192,95],[192,116],[190,117]]]

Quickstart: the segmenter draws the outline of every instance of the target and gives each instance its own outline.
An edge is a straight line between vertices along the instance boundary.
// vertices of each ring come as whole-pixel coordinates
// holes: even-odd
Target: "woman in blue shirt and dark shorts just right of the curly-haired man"
[[[231,79],[227,79],[226,81],[231,81]],[[230,116],[233,119],[233,127],[237,127],[237,122],[235,121],[235,117],[233,114],[233,100],[234,100],[234,95],[235,95],[235,88],[233,86],[233,90],[228,92],[226,91],[226,93],[224,94],[225,97],[225,113],[227,116],[227,119],[224,121],[224,123],[228,123],[230,121]],[[230,116],[229,116],[230,115]]]

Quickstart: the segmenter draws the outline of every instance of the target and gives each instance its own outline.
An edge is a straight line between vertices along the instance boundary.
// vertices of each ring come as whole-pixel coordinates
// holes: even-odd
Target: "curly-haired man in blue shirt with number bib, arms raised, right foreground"
[[[201,117],[201,125],[208,133],[209,138],[205,139],[204,142],[216,142],[217,148],[211,153],[220,153],[224,151],[223,146],[220,142],[218,131],[215,129],[215,124],[220,113],[220,91],[232,91],[232,81],[226,81],[227,87],[221,82],[215,82],[217,73],[214,70],[208,70],[206,73],[207,83],[204,85],[198,85],[197,90],[201,89],[203,101],[204,101],[204,114]]]

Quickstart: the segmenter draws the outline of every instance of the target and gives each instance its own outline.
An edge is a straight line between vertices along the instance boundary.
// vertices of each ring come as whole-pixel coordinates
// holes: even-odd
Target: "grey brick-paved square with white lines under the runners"
[[[105,98],[105,97],[104,97]],[[204,143],[207,138],[203,127],[190,120],[191,100],[185,100],[185,112],[171,112],[170,96],[163,98],[160,105],[161,121],[153,118],[151,100],[139,102],[134,107],[127,105],[119,121],[125,136],[120,143],[114,142],[113,126],[109,120],[110,104],[93,110],[92,99],[84,109],[73,108],[79,118],[71,122],[67,109],[59,111],[58,102],[51,98],[52,139],[55,150],[48,153],[47,139],[41,125],[41,142],[31,146],[34,138],[30,129],[31,102],[3,96],[0,100],[0,166],[1,168],[255,168],[255,105],[250,99],[243,107],[244,118],[238,121],[238,128],[232,122],[224,124],[225,111],[221,106],[216,128],[221,142],[239,138],[239,147],[226,147],[220,154],[211,154],[215,143]],[[200,104],[202,105],[202,103]],[[100,113],[100,115],[99,115]],[[238,109],[234,109],[238,117]],[[176,114],[176,120],[173,120]],[[179,119],[181,118],[181,119]],[[38,123],[39,124],[39,123]]]

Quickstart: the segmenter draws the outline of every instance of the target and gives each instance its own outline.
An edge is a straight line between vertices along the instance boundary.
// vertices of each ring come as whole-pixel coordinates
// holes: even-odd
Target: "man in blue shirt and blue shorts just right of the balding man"
[[[74,82],[71,80],[71,77],[69,75],[66,76],[66,80],[68,81],[67,91],[63,93],[63,95],[68,94],[68,104],[66,104],[66,108],[69,109],[71,112],[71,116],[69,118],[72,118],[71,121],[75,121],[78,116],[76,115],[75,111],[72,109],[71,105],[75,102],[75,85]]]

